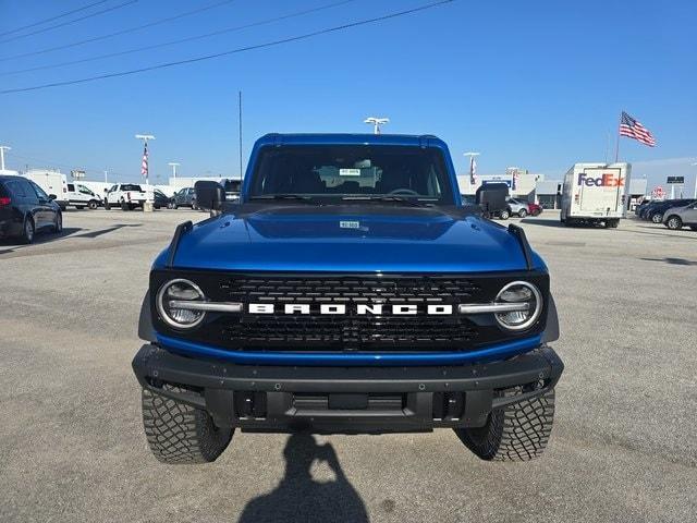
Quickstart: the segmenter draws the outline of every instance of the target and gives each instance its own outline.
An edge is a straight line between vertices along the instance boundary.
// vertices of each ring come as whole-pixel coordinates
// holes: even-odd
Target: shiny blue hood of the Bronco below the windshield
[[[339,272],[525,270],[506,229],[475,216],[390,206],[265,207],[205,220],[184,234],[173,266]],[[164,265],[162,253],[156,266]],[[535,253],[533,265],[545,268]]]

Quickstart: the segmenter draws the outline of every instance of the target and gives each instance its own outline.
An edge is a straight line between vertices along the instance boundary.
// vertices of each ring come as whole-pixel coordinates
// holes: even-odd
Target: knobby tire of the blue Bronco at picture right
[[[509,389],[504,397],[521,393]],[[542,396],[493,411],[484,427],[457,428],[455,434],[486,461],[529,461],[547,447],[554,419],[554,389]]]

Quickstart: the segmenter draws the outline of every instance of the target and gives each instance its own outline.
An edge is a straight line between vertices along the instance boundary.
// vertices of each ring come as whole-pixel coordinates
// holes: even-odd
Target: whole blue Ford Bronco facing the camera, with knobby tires
[[[462,204],[435,136],[269,134],[239,199],[155,260],[133,361],[148,443],[216,460],[245,431],[450,427],[484,460],[547,446],[563,364],[523,230]]]

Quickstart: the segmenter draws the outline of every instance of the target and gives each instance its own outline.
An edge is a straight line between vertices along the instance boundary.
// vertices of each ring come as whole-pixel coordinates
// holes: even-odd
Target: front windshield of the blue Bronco
[[[414,146],[265,147],[250,197],[369,199],[386,196],[452,205],[443,155]]]

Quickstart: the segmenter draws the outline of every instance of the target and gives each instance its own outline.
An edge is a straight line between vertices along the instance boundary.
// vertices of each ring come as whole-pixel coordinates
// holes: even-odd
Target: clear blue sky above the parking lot
[[[95,0],[5,0],[0,33]],[[78,17],[126,0],[26,32]],[[183,45],[21,74],[77,60],[253,23],[337,0],[237,0],[147,29],[7,59],[172,16],[220,0],[138,0],[109,13],[26,38],[0,41],[0,90],[147,66],[286,38],[429,3],[355,0],[304,16]],[[21,35],[0,36],[0,40]],[[575,161],[614,155],[622,109],[658,139],[622,139],[621,158],[651,183],[694,177],[697,167],[697,5],[694,1],[458,0],[417,14],[279,47],[121,78],[0,95],[0,144],[11,168],[87,169],[99,179],[137,180],[142,146],[157,136],[152,177],[237,173],[237,90],[244,93],[244,150],[267,132],[432,133],[456,167],[479,150],[481,173],[518,166],[550,178]],[[608,133],[611,146],[609,147]]]

